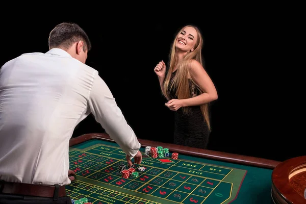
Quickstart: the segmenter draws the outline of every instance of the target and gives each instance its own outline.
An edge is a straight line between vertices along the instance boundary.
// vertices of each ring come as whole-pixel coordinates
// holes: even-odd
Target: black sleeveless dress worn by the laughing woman
[[[171,81],[175,75],[174,71],[171,75]],[[193,96],[199,95],[199,91],[194,88],[192,82],[189,82],[190,92]],[[169,83],[170,87],[170,83]],[[177,98],[175,96],[175,88],[169,92],[171,99]],[[207,148],[209,141],[208,125],[201,113],[200,106],[191,106],[189,113],[183,113],[180,108],[174,111],[174,144]]]

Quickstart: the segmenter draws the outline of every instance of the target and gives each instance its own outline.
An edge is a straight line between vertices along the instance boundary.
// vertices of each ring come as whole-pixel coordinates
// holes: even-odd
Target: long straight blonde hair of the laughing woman
[[[178,62],[175,58],[175,52],[176,52],[175,42],[176,42],[178,36],[180,35],[180,33],[182,33],[182,31],[186,27],[192,27],[196,30],[197,41],[195,43],[193,52],[189,52],[187,55],[184,56],[184,58],[181,61]],[[163,86],[164,96],[168,100],[170,100],[169,92],[173,88],[176,89],[176,96],[177,96],[178,99],[191,98],[192,93],[191,93],[190,87],[189,87],[189,80],[191,80],[194,87],[200,93],[204,93],[204,91],[201,90],[201,88],[192,79],[188,79],[189,74],[188,74],[188,69],[187,69],[187,66],[190,66],[191,60],[197,60],[203,66],[202,54],[201,54],[202,46],[203,46],[202,35],[201,35],[199,29],[194,25],[186,25],[185,27],[183,27],[180,30],[179,33],[176,34],[176,36],[174,38],[174,41],[172,43],[172,46],[171,46],[171,50],[170,50],[170,54],[169,54],[169,65],[170,66],[169,66],[169,70],[168,70],[168,73],[166,75],[166,78],[165,78],[165,81],[164,81],[164,86]],[[170,78],[171,78],[171,74],[172,74],[175,67],[176,67],[176,74],[175,74],[175,76],[173,78],[173,81],[171,83]],[[168,90],[169,84],[170,84],[170,90]],[[183,109],[184,113],[190,113],[189,107],[184,107],[182,109]],[[208,124],[208,128],[209,128],[209,131],[210,131],[211,130],[211,125],[210,125],[210,116],[209,116],[208,104],[200,105],[200,109],[201,109],[202,115],[204,116],[205,121]]]

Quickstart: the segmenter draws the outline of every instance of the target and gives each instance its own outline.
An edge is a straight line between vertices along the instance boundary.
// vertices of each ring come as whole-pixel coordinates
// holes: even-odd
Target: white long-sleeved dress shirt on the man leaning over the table
[[[0,70],[0,180],[67,185],[69,140],[90,112],[122,150],[140,148],[97,70],[62,49],[23,54]]]

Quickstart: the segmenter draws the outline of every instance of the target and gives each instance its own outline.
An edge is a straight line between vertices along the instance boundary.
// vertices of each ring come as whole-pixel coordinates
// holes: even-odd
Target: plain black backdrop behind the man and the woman
[[[299,13],[286,6],[181,6],[173,13],[150,6],[104,7],[100,13],[75,6],[52,15],[19,13],[17,20],[4,15],[1,65],[23,53],[47,52],[56,24],[78,23],[92,42],[86,64],[106,81],[137,137],[172,142],[173,112],[164,106],[154,67],[168,62],[176,32],[195,24],[205,40],[205,68],[219,94],[211,104],[209,149],[278,161],[304,155]],[[63,12],[65,17],[59,15]],[[104,130],[90,115],[73,137],[94,132]]]

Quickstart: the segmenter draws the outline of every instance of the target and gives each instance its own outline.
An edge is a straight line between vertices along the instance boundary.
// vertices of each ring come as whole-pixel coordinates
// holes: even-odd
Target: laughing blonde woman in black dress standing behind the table
[[[187,25],[174,38],[166,73],[164,61],[154,68],[161,90],[175,111],[174,143],[207,148],[211,132],[209,103],[218,98],[214,83],[203,68],[203,39],[199,29]]]

